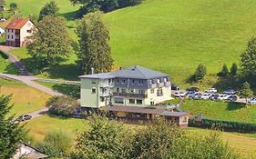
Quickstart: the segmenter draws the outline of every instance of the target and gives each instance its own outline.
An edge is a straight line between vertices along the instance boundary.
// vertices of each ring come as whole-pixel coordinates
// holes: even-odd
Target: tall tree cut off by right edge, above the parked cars
[[[256,77],[256,37],[248,42],[246,50],[241,54],[241,69],[246,75]]]

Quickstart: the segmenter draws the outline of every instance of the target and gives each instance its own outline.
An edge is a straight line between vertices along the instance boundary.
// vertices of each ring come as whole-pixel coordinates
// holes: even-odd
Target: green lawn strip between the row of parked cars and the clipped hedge
[[[230,102],[185,100],[181,108],[194,115],[202,113],[207,118],[256,123],[255,105],[245,107],[243,104]]]

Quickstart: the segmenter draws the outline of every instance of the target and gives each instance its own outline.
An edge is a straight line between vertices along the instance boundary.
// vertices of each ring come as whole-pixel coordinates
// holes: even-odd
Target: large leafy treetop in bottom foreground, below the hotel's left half
[[[122,124],[94,115],[89,120],[89,127],[77,135],[76,148],[70,155],[72,159],[126,158],[124,145],[128,144],[129,135]]]

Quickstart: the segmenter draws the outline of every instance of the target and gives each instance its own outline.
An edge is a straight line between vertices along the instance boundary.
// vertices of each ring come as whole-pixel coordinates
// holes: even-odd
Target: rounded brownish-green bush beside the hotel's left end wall
[[[70,96],[54,96],[46,103],[49,107],[49,114],[63,116],[72,116],[78,105],[77,101]]]

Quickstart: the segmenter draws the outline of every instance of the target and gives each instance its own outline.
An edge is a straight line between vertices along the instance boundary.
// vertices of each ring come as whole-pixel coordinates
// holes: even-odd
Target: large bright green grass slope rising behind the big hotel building
[[[147,66],[183,84],[199,64],[216,74],[239,62],[256,34],[255,7],[253,0],[146,0],[104,15],[104,22],[115,65]]]

